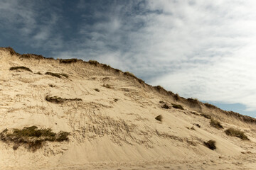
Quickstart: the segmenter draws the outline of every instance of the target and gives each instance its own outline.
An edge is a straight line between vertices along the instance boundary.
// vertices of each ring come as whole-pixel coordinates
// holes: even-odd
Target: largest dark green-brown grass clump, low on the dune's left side
[[[23,129],[5,129],[0,133],[0,140],[4,142],[14,142],[13,149],[25,145],[28,149],[36,151],[43,146],[44,142],[62,142],[68,140],[69,132],[52,132],[50,128],[38,129],[36,126],[25,127]]]

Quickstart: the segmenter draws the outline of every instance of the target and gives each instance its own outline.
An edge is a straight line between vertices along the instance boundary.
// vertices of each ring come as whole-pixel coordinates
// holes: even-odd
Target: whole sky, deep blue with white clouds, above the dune
[[[256,2],[0,0],[0,46],[97,60],[256,117]]]

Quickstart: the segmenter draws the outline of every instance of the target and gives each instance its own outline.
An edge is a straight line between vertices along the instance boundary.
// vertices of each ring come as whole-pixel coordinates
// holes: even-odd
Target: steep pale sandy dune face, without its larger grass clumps
[[[26,145],[14,150],[14,142],[0,140],[0,166],[6,169],[117,166],[112,164],[124,169],[138,164],[142,169],[187,169],[189,164],[218,169],[238,157],[240,162],[250,158],[254,165],[253,118],[175,96],[97,62],[46,59],[1,48],[0,63],[0,132],[33,125],[70,132],[68,141],[48,141],[36,151]],[[169,109],[162,107],[165,103]],[[219,120],[223,129],[211,126],[203,114]],[[250,141],[225,135],[231,127],[245,132]],[[208,140],[215,140],[217,149],[203,144]]]

